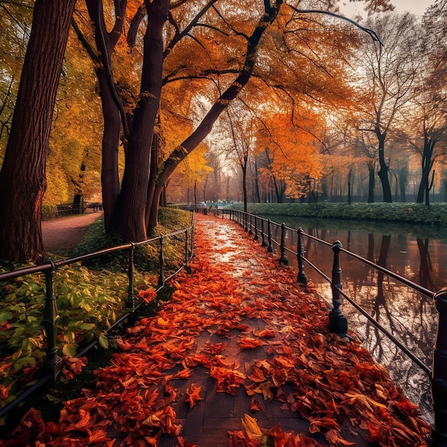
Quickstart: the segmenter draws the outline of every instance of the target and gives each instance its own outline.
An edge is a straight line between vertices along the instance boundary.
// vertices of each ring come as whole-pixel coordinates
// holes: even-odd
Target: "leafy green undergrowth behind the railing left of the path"
[[[188,228],[191,214],[161,209],[154,237]],[[152,236],[151,236],[152,237]],[[104,222],[95,221],[73,252],[74,256],[91,253],[122,242],[106,236]],[[184,262],[185,238],[164,238],[164,268],[176,271]],[[159,240],[139,246],[134,256],[134,296],[150,301],[159,278]],[[120,251],[100,259],[73,263],[56,269],[54,294],[59,317],[56,320],[58,355],[69,358],[93,338],[109,348],[107,329],[129,310],[129,251]],[[21,266],[15,266],[19,268]],[[10,268],[0,265],[0,272]],[[166,276],[166,275],[165,275]],[[148,293],[148,291],[150,293]],[[148,297],[150,299],[148,299]],[[14,400],[21,388],[33,383],[45,357],[46,338],[42,320],[45,306],[45,278],[42,273],[22,276],[2,283],[0,288],[0,408]],[[144,312],[154,308],[154,304]],[[0,425],[4,423],[0,419]]]

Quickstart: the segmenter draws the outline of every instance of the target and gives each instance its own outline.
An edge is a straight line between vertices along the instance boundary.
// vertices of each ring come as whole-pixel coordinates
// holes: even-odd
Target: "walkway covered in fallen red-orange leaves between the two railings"
[[[59,421],[31,408],[1,446],[425,446],[418,408],[248,233],[196,216],[192,273],[117,338]]]

